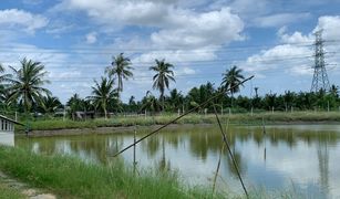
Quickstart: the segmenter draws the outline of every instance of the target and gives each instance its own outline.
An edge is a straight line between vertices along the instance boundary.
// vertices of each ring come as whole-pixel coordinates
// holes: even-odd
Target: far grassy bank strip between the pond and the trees
[[[166,124],[176,118],[177,115],[148,116],[148,117],[111,117],[109,119],[97,118],[82,122],[62,121],[60,118],[47,121],[28,121],[22,122],[28,125],[31,130],[49,130],[49,129],[68,129],[68,128],[97,128],[97,127],[119,127],[119,126],[151,126],[156,124]],[[226,119],[228,115],[221,116]],[[340,112],[295,112],[295,113],[257,113],[257,114],[231,114],[231,124],[256,125],[261,124],[262,118],[266,124],[280,123],[318,123],[318,122],[340,122]],[[214,115],[190,114],[176,124],[215,124]],[[18,126],[18,132],[23,132],[24,126]]]

